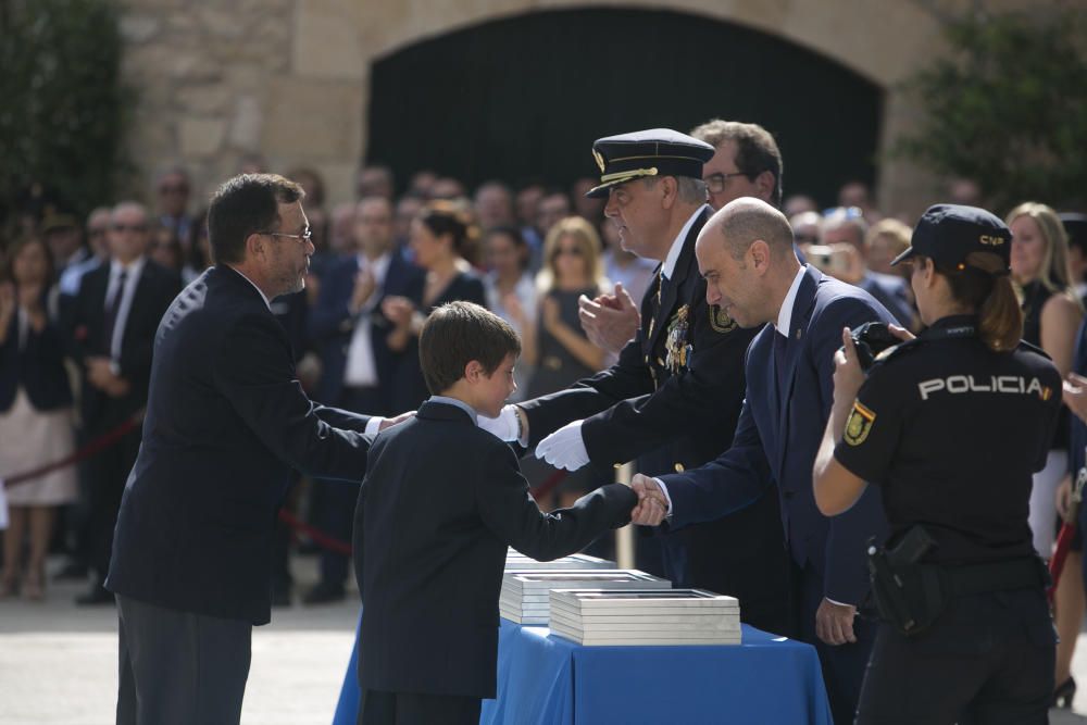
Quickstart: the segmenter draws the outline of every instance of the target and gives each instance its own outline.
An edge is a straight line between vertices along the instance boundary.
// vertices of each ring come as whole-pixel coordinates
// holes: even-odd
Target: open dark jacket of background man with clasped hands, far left
[[[110,358],[102,339],[105,326],[105,295],[110,285],[110,264],[103,263],[83,276],[79,295],[72,309],[72,354],[84,366],[80,392],[80,417],[90,433],[103,433],[124,423],[147,403],[151,376],[151,351],[162,313],[182,289],[182,278],[151,260],[133,292],[132,307],[121,337],[121,377],[128,380],[128,393],[110,398],[87,380],[84,361],[88,357]]]

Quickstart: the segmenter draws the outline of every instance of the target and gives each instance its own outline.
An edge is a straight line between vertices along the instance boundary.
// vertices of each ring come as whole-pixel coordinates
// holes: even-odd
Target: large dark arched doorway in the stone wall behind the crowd
[[[566,185],[598,173],[611,134],[712,117],[760,123],[785,192],[830,204],[872,183],[883,92],[842,65],[750,28],[640,10],[534,12],[426,40],[374,63],[367,161],[401,182],[434,168]]]

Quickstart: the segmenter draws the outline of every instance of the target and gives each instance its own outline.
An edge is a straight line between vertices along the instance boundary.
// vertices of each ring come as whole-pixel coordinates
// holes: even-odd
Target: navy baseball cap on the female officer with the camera
[[[929,207],[913,230],[910,248],[891,265],[915,255],[927,257],[942,266],[964,268],[975,252],[996,254],[1002,262],[997,274],[1008,274],[1012,233],[1000,217],[977,207],[935,204]]]

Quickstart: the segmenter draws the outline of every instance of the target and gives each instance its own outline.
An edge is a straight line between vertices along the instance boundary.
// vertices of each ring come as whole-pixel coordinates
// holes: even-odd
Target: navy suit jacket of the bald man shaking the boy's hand
[[[759,333],[747,355],[747,400],[733,446],[697,471],[663,476],[673,528],[722,516],[763,496],[773,480],[798,566],[811,563],[825,597],[861,604],[869,589],[870,537],[886,537],[878,491],[870,486],[852,509],[828,518],[815,507],[812,465],[834,400],[834,352],[841,328],[895,320],[867,292],[808,266],[792,307],[785,349],[785,389],[777,395],[775,327]],[[770,475],[767,475],[767,466]]]

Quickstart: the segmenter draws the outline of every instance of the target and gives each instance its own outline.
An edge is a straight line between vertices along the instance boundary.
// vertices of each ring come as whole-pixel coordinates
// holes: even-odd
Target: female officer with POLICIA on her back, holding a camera
[[[986,211],[932,207],[896,260],[928,329],[866,379],[842,335],[815,501],[841,513],[871,482],[891,528],[870,550],[883,624],[858,723],[1046,722],[1054,635],[1027,509],[1061,379],[1020,343],[1010,242]]]

